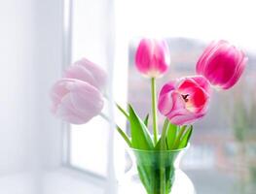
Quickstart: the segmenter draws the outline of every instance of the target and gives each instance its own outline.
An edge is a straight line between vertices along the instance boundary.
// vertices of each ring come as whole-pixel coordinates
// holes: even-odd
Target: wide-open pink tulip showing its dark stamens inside
[[[202,76],[166,83],[159,96],[159,111],[171,123],[191,124],[207,112],[210,84]]]

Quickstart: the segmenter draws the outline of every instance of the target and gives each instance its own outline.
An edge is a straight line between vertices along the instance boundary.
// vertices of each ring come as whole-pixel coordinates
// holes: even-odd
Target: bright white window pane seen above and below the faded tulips
[[[86,57],[108,71],[105,7],[100,0],[74,0],[72,11],[72,61]],[[104,112],[108,114],[107,102]],[[76,168],[106,176],[109,124],[100,116],[84,125],[72,125],[70,162]]]

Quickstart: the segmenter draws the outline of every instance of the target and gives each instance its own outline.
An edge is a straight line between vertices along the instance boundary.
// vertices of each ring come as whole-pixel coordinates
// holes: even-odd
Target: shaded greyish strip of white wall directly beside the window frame
[[[59,79],[63,68],[63,0],[37,0],[34,12],[35,56],[35,113],[39,127],[42,162],[47,166],[59,165],[61,159],[60,122],[50,113],[50,89]]]

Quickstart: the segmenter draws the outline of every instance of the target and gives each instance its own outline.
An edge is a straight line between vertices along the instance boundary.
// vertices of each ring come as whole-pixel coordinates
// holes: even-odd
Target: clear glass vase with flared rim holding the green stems
[[[180,169],[187,148],[165,151],[130,149],[131,168],[120,181],[120,194],[195,194],[192,181]]]

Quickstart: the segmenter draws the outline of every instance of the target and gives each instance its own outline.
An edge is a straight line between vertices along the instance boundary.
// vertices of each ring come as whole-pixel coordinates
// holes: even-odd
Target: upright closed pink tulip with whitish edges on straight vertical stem
[[[138,71],[150,78],[162,76],[168,69],[169,59],[167,43],[153,39],[142,39],[135,54]]]

